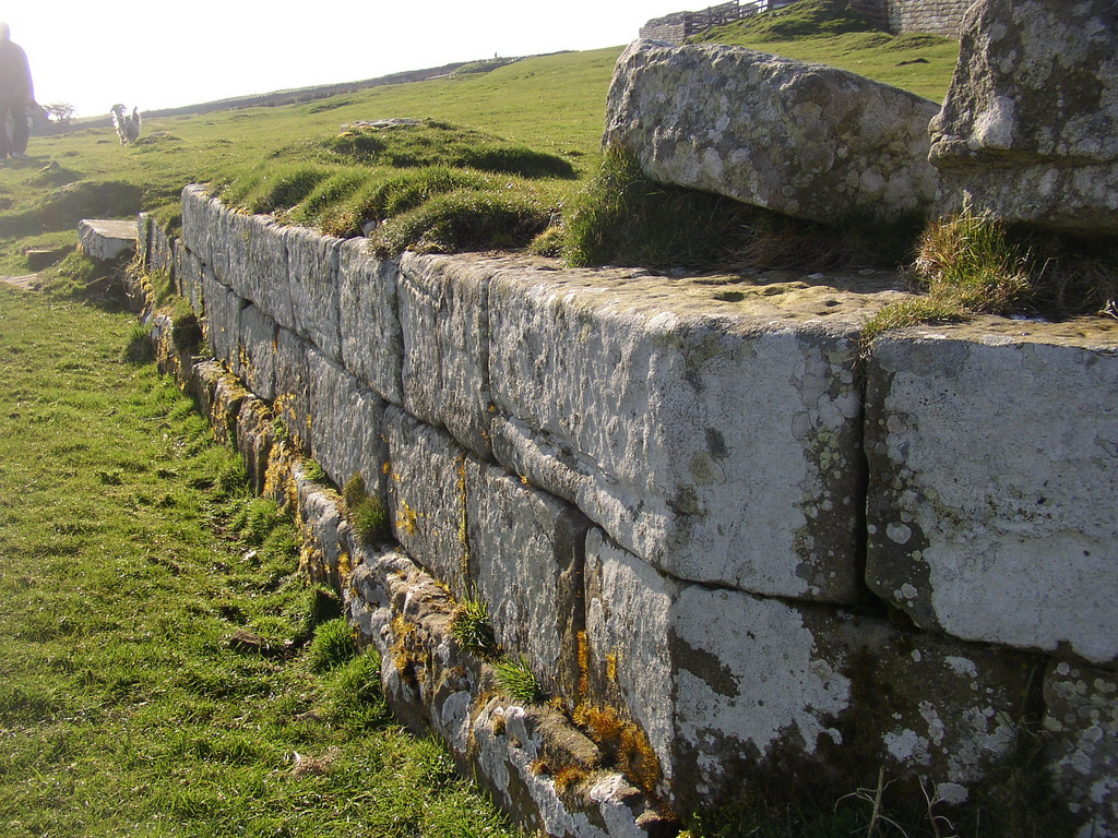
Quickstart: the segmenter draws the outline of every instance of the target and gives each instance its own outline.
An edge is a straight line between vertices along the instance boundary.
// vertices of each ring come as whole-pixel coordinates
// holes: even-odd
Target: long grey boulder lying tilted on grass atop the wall
[[[936,103],[862,76],[740,47],[636,41],[604,144],[653,180],[823,223],[926,215]]]

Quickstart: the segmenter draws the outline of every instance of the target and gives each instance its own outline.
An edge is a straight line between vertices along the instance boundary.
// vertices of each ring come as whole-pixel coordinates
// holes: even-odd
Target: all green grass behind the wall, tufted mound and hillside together
[[[804,8],[813,1],[803,0]],[[932,98],[942,97],[957,53],[953,41],[880,32],[771,39],[783,31],[787,37],[780,27],[761,34],[731,28],[708,37],[834,64]],[[151,118],[141,143],[130,147],[107,126],[32,137],[32,159],[0,170],[0,273],[27,273],[22,254],[29,247],[73,244],[83,217],[146,210],[173,227],[181,189],[193,182],[236,183],[230,196],[250,209],[274,209],[290,221],[342,236],[357,235],[371,220],[415,212],[386,231],[386,250],[398,249],[408,236],[427,249],[520,246],[597,171],[606,91],[620,50],[542,56],[484,74],[299,105]],[[929,64],[901,66],[919,58]],[[340,139],[341,125],[392,118],[427,120],[428,133],[444,126],[442,133],[457,131],[467,141],[415,158],[405,170],[392,164],[391,153],[371,161],[347,156],[350,141]],[[456,156],[447,153],[455,147]],[[395,162],[406,161],[397,155]],[[442,173],[419,174],[424,169]],[[446,170],[468,183],[448,190]],[[491,206],[477,194],[491,196]],[[421,204],[435,197],[442,201],[425,210]],[[514,219],[517,235],[487,238],[476,215],[490,209],[499,219]],[[467,219],[464,229],[448,222],[457,213]]]

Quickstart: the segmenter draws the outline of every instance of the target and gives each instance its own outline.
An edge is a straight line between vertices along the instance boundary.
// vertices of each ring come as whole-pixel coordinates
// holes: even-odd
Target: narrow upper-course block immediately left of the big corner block
[[[498,263],[405,254],[404,406],[490,458],[489,283]]]

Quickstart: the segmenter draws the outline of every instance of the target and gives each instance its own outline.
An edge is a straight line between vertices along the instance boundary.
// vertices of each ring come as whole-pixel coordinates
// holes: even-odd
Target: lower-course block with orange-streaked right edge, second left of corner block
[[[466,451],[396,407],[385,411],[388,510],[397,541],[459,594],[467,589]]]

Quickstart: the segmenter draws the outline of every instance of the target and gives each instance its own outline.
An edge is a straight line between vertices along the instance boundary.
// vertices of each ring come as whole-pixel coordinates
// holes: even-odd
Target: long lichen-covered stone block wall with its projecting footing
[[[296,511],[399,717],[521,821],[671,835],[743,783],[879,771],[947,807],[1027,740],[1076,828],[1118,832],[1118,328],[991,320],[865,358],[894,276],[380,260],[198,188],[171,250],[219,362],[176,363]],[[392,543],[301,456],[361,475]],[[550,704],[459,648],[467,596]]]

